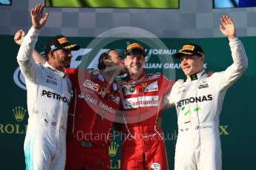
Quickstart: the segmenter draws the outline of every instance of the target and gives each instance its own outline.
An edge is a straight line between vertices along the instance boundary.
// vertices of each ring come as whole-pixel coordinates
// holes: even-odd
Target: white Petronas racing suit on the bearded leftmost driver
[[[64,72],[36,64],[32,53],[39,30],[24,37],[17,60],[27,86],[28,126],[24,141],[27,169],[65,169],[66,125],[72,94]]]

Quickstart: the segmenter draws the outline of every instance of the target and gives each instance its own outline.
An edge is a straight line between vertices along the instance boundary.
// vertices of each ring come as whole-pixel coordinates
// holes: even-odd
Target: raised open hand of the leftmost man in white
[[[36,30],[41,30],[41,28],[45,25],[47,18],[49,16],[49,13],[45,13],[45,4],[36,4],[36,7],[34,7],[30,11],[30,16],[32,20],[32,25]]]

